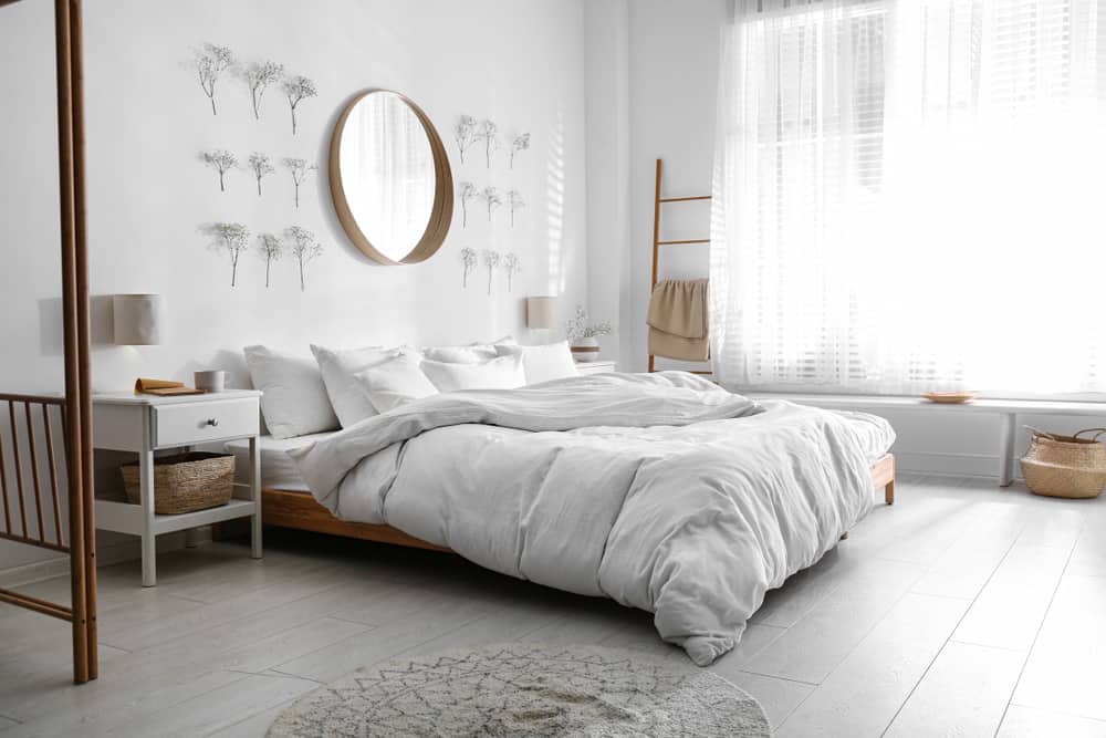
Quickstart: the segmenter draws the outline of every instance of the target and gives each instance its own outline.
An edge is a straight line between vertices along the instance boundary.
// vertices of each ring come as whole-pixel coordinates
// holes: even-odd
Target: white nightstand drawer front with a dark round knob
[[[154,446],[186,446],[238,436],[260,429],[258,401],[205,401],[154,408]]]

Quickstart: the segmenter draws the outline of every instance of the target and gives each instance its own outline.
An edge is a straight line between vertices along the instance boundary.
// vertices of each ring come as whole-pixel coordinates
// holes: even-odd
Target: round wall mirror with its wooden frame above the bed
[[[397,92],[346,106],[331,139],[331,194],[349,239],[385,264],[434,256],[453,216],[453,178],[434,124]]]

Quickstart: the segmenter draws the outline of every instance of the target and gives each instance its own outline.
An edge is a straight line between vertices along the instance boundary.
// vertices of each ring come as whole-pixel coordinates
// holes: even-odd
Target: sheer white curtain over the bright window
[[[738,6],[719,84],[716,375],[1106,391],[1106,0]]]

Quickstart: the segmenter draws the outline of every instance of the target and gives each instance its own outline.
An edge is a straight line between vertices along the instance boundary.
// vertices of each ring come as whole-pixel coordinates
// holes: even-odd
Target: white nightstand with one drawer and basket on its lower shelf
[[[261,558],[260,397],[253,389],[177,397],[133,392],[93,396],[93,447],[137,454],[142,490],[140,505],[97,499],[96,528],[142,538],[143,586],[157,584],[155,541],[164,533],[252,518],[252,555]],[[181,514],[155,513],[154,451],[241,438],[250,441],[250,481],[234,486],[229,503]]]

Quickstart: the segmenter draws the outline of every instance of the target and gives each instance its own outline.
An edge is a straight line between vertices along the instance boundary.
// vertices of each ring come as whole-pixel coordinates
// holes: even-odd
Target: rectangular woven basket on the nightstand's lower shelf
[[[142,501],[138,465],[123,467],[123,486],[132,505]],[[195,512],[230,502],[234,491],[234,457],[192,451],[154,460],[154,512]]]

